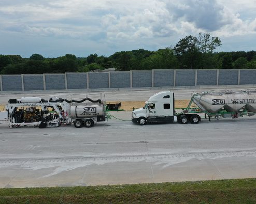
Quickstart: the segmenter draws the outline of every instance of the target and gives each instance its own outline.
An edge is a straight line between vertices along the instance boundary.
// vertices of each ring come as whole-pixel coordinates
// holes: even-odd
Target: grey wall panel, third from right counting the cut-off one
[[[217,70],[197,70],[196,85],[217,85]]]

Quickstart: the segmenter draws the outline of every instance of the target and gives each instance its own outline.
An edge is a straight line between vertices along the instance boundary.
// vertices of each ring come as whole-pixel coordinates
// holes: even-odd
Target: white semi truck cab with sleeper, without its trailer
[[[151,96],[143,108],[132,112],[132,121],[140,125],[146,123],[172,123],[177,121],[174,111],[174,93],[162,91]]]

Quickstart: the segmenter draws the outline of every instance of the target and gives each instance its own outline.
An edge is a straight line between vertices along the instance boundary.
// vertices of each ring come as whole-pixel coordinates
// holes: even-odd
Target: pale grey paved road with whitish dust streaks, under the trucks
[[[117,95],[147,100],[153,94],[127,92]],[[190,93],[179,90],[176,95],[189,99]],[[109,92],[109,100],[115,94]],[[130,111],[111,114],[131,120]],[[255,178],[255,125],[256,116],[145,126],[112,118],[92,128],[0,124],[0,187]]]

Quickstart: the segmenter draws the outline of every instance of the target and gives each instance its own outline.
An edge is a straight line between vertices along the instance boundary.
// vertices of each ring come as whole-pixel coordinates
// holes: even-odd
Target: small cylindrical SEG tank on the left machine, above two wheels
[[[104,106],[100,105],[71,106],[70,108],[70,116],[72,118],[87,118],[104,115]]]

